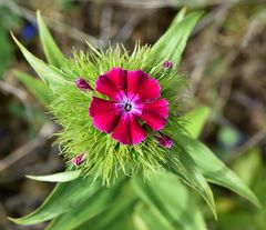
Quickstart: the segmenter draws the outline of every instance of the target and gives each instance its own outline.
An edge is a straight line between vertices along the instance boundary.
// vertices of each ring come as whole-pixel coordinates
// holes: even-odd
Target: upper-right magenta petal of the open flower
[[[127,72],[129,98],[135,96],[141,101],[154,100],[160,97],[160,89],[157,80],[149,78],[142,70]]]

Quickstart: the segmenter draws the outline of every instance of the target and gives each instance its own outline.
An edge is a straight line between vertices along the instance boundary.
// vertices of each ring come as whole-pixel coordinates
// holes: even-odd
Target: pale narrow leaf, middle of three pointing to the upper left
[[[54,67],[49,67],[47,63],[44,63],[42,60],[34,57],[32,53],[30,53],[18,40],[17,38],[11,33],[13,40],[22,51],[24,58],[30,63],[30,66],[37,71],[39,77],[47,82],[52,89],[57,87],[57,84],[64,84],[64,83],[73,83],[69,80],[66,80],[63,72]]]

